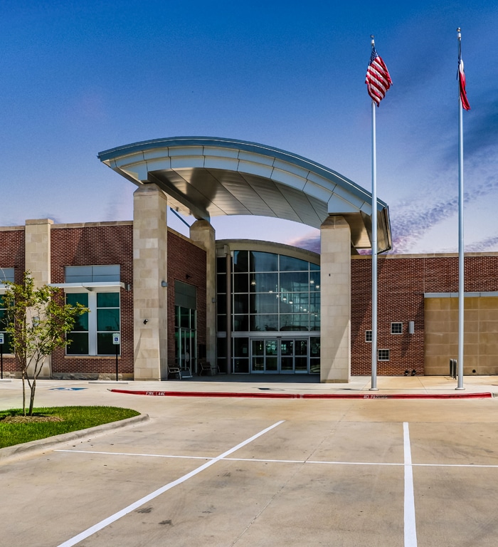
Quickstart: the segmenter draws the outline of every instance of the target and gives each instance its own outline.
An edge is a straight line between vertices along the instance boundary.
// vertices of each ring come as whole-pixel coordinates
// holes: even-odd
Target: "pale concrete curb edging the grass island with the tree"
[[[0,449],[0,464],[5,463],[9,459],[31,455],[35,452],[42,452],[46,448],[55,446],[55,444],[81,439],[88,435],[110,431],[110,429],[120,429],[120,427],[136,425],[141,422],[147,422],[147,420],[149,420],[149,415],[141,414],[117,422],[109,422],[107,424],[88,427],[87,429],[80,429],[79,431],[71,431],[69,433],[61,433],[60,435],[54,435],[53,437],[47,437],[46,439],[37,439],[36,441],[25,442],[23,444],[14,444],[13,447]]]

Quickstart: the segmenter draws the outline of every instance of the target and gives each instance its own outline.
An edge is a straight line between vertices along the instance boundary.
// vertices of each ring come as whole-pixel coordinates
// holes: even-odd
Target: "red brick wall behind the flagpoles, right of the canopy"
[[[377,348],[390,360],[378,361],[378,375],[423,374],[424,293],[458,291],[458,256],[378,257]],[[465,291],[498,291],[498,256],[465,257]],[[408,334],[408,321],[415,333]],[[391,322],[403,323],[403,334],[391,335]],[[371,373],[371,257],[351,259],[351,374]]]

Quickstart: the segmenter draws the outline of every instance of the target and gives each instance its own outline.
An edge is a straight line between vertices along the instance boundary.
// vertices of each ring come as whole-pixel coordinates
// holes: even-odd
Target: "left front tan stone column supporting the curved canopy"
[[[134,380],[166,380],[168,300],[166,194],[144,184],[133,194]]]

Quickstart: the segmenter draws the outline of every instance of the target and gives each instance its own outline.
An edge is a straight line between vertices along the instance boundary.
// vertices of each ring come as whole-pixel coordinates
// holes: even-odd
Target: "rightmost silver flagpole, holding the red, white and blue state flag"
[[[462,57],[462,34],[457,28],[458,60]],[[460,70],[460,66],[459,66]],[[459,80],[460,85],[460,80]],[[457,390],[463,387],[463,343],[464,343],[464,301],[465,301],[465,269],[463,242],[463,108],[462,95],[458,99],[458,372]]]

